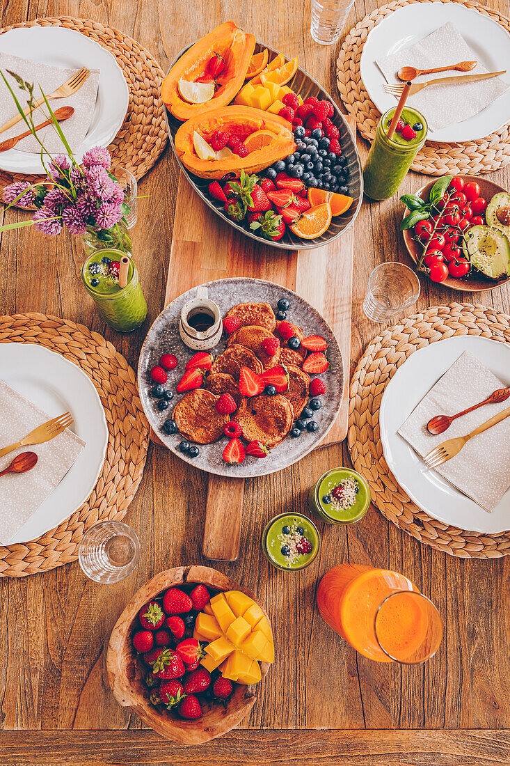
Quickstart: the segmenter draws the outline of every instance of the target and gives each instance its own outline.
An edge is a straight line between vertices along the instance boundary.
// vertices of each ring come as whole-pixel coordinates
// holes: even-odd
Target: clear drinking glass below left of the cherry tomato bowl
[[[404,264],[380,264],[368,277],[363,311],[372,322],[388,322],[420,296],[417,273]]]

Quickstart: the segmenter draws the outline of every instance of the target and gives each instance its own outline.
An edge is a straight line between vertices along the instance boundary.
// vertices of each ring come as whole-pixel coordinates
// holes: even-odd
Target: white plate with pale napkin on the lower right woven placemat
[[[487,512],[486,509],[482,508],[471,497],[456,489],[456,486],[453,486],[450,481],[441,476],[437,470],[428,470],[413,447],[399,434],[399,430],[402,429],[404,422],[417,409],[423,398],[429,394],[430,389],[440,381],[440,378],[462,357],[464,352],[469,352],[481,365],[488,368],[498,381],[501,381],[501,384],[496,384],[495,388],[503,388],[510,385],[510,345],[477,336],[456,336],[436,343],[430,343],[430,345],[414,352],[414,354],[407,358],[406,362],[398,368],[384,390],[379,410],[381,444],[387,466],[391,473],[394,474],[399,485],[410,499],[432,516],[433,519],[457,526],[460,529],[497,534],[498,532],[505,532],[510,529],[510,489],[506,489],[502,498],[492,508],[492,512]],[[468,395],[468,389],[474,390],[476,385],[475,381],[466,381],[465,395]],[[485,396],[492,394],[492,390],[488,391]],[[476,401],[466,401],[466,405],[463,407],[458,406],[458,393],[460,392],[453,391],[451,404],[446,411],[434,412],[433,414],[456,414],[456,412],[485,398],[484,395],[480,396],[480,392],[472,394]],[[445,404],[446,407],[447,405]],[[430,449],[450,437],[469,433],[473,427],[476,427],[469,424],[470,417],[474,418],[473,422],[476,425],[479,425],[506,407],[508,407],[508,401],[500,404],[486,404],[470,415],[459,417],[439,437],[426,436],[426,438],[430,439]],[[423,429],[427,424],[427,416],[425,416],[425,420]],[[507,424],[506,426],[505,423]],[[485,431],[485,438],[489,440],[488,444],[495,444],[495,447],[498,449],[502,446],[505,455],[508,457],[510,456],[508,444],[501,445],[501,440],[499,440],[498,434],[496,434],[496,429],[503,426],[505,426],[505,429],[508,428],[508,420]],[[420,438],[423,438],[423,434],[418,435]],[[409,437],[409,434],[406,435]],[[476,454],[476,450],[479,449],[479,445],[476,445],[476,440],[483,436],[484,434],[481,434],[480,437],[475,437],[468,443],[471,445],[470,449],[475,450],[473,454]],[[507,430],[505,430],[505,440],[507,437]],[[419,447],[419,445],[415,446]],[[464,464],[463,460],[465,460],[466,455],[469,457],[469,453],[465,453],[465,456],[461,457],[466,449],[467,445],[461,450],[459,455],[453,458],[453,460],[458,460],[461,466]],[[448,462],[453,463],[453,460]],[[501,461],[502,459],[499,460]],[[510,457],[508,457],[508,461],[508,470],[510,470]],[[444,466],[441,466],[441,468],[446,470],[446,465],[447,463],[444,463]],[[450,466],[450,470],[452,468],[455,468],[455,466]],[[477,466],[473,465],[472,474],[475,478],[476,470]],[[480,478],[480,486],[483,483],[483,478],[483,476]],[[456,479],[459,479],[459,476],[453,476],[453,480]],[[466,475],[461,477],[461,480],[466,481]],[[469,489],[475,489],[476,493],[479,488],[471,483],[469,488],[466,486],[466,490],[469,491]]]

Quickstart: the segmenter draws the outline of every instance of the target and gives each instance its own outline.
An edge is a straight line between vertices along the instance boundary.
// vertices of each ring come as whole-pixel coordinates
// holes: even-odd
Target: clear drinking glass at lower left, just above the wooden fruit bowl
[[[123,522],[98,522],[83,535],[78,560],[88,578],[110,584],[131,574],[140,558],[140,543]]]

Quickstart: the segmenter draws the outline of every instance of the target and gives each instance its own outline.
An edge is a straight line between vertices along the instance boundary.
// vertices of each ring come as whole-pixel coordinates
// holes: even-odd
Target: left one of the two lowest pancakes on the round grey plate
[[[188,391],[174,408],[174,420],[180,433],[198,444],[211,444],[220,439],[230,415],[221,415],[215,410],[218,399],[219,396],[204,388]]]

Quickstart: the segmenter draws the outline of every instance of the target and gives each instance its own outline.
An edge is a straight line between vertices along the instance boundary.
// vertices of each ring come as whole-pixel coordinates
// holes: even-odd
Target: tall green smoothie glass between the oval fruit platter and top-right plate
[[[423,114],[409,106],[404,107],[400,119],[411,128],[416,126],[416,138],[406,140],[401,131],[396,130],[391,139],[388,138],[387,131],[396,108],[393,106],[387,110],[379,120],[374,142],[363,169],[365,194],[371,199],[387,199],[395,194],[427,138],[427,120]]]

